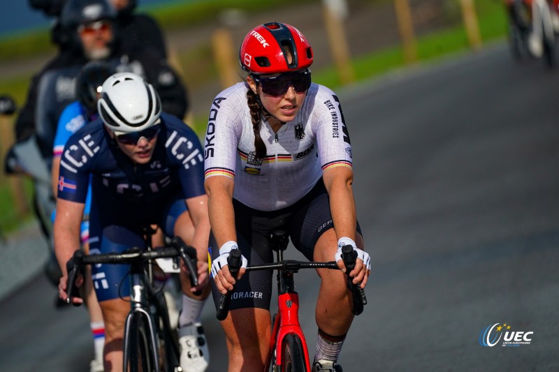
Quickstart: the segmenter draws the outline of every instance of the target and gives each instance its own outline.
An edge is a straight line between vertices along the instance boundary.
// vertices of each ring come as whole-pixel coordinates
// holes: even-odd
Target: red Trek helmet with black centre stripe
[[[288,63],[284,50],[293,54]],[[239,51],[240,66],[254,74],[286,73],[312,65],[312,47],[298,29],[289,24],[270,22],[254,27]]]

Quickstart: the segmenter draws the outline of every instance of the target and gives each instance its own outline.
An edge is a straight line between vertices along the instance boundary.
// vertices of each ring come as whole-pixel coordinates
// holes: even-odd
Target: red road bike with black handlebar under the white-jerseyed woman
[[[335,261],[330,262],[307,262],[296,260],[284,260],[283,252],[289,244],[287,233],[282,230],[274,231],[270,237],[270,246],[276,253],[276,262],[247,267],[247,271],[277,270],[277,312],[272,321],[272,337],[270,341],[270,352],[266,360],[264,371],[273,372],[310,372],[310,359],[307,342],[303,329],[299,323],[299,296],[294,290],[295,283],[293,274],[300,269],[335,269],[338,267]],[[228,258],[229,271],[236,276],[240,269],[240,251],[234,249]],[[356,252],[351,246],[342,248],[342,259],[347,268],[347,286],[353,297],[352,311],[355,315],[363,312],[363,306],[367,304],[365,292],[358,285],[351,283],[349,272],[354,269]],[[234,290],[234,288],[233,288]],[[217,319],[227,318],[231,292],[222,295],[217,310]]]

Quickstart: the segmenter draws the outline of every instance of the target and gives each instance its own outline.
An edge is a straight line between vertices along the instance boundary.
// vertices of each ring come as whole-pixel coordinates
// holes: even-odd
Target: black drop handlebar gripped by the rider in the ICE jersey
[[[72,258],[66,262],[66,269],[68,271],[68,281],[66,282],[66,293],[68,293],[68,299],[66,299],[66,302],[70,304],[72,302],[72,297],[80,297],[78,288],[75,285],[75,279],[78,277],[78,274],[80,274],[80,271],[82,271],[84,265],[132,265],[138,262],[143,263],[147,260],[154,260],[156,258],[173,258],[177,256],[182,258],[184,265],[187,265],[187,269],[190,274],[190,283],[193,287],[196,287],[196,285],[198,285],[196,249],[184,244],[184,241],[182,241],[180,237],[174,237],[171,239],[168,246],[157,247],[150,251],[133,247],[122,253],[85,255],[85,253],[78,249],[74,252]],[[200,294],[200,291],[196,292],[194,292],[195,295]],[[80,306],[80,304],[74,305]]]

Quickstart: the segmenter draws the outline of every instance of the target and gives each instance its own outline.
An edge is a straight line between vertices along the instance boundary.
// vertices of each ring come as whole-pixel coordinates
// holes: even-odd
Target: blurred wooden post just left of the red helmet
[[[222,88],[231,87],[231,85],[240,81],[238,75],[239,63],[235,56],[231,32],[224,27],[215,30],[212,36],[212,45]]]

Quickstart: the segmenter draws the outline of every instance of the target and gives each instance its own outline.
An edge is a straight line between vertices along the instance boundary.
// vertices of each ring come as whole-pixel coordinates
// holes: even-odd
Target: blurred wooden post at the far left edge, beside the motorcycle
[[[0,170],[0,182],[4,183],[8,181],[13,195],[15,212],[17,216],[25,216],[29,213],[29,207],[27,204],[27,196],[25,195],[23,179],[19,175],[6,177],[3,172],[6,152],[13,144],[12,127],[12,121],[6,119],[6,117],[0,116],[0,166],[2,167]]]

